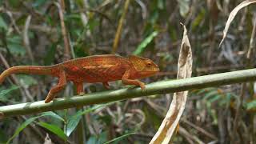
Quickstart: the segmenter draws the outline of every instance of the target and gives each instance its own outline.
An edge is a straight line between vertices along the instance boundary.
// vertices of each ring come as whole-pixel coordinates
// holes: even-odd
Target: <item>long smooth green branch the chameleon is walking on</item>
[[[121,90],[107,90],[103,92],[85,94],[84,96],[75,96],[72,98],[56,98],[54,102],[50,103],[39,101],[1,106],[0,113],[4,117],[22,114],[35,114],[44,111],[62,110],[71,107],[86,106],[103,102],[114,102],[153,94],[174,93],[184,90],[202,89],[206,87],[222,86],[255,80],[256,69],[238,70],[194,78],[154,82],[146,85],[145,91],[142,91],[138,87],[129,87]]]

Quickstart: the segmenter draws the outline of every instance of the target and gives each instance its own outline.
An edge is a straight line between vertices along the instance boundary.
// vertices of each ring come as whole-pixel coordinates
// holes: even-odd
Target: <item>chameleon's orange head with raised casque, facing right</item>
[[[130,54],[128,58],[136,70],[135,75],[138,74],[139,78],[149,77],[159,71],[158,65],[148,58],[138,57],[133,54]]]

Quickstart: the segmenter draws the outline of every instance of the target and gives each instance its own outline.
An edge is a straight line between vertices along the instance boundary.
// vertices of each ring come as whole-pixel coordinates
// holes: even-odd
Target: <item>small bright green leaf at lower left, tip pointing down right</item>
[[[38,122],[38,125],[46,128],[47,130],[50,130],[54,134],[58,135],[59,138],[62,138],[64,141],[66,141],[66,138],[67,138],[66,134],[58,126],[55,126],[46,122]]]

